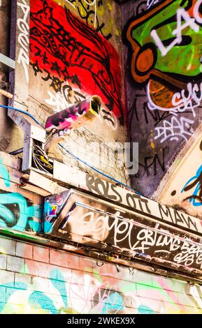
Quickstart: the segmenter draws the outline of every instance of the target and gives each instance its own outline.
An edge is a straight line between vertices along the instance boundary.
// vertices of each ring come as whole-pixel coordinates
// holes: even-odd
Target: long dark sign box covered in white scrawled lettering
[[[202,274],[201,237],[73,189],[45,198],[43,224],[45,234],[66,242]]]

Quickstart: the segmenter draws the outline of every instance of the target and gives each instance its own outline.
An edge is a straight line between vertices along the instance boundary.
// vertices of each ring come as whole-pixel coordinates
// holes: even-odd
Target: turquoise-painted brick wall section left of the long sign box
[[[0,153],[0,228],[40,232],[43,197],[20,188],[17,158]]]

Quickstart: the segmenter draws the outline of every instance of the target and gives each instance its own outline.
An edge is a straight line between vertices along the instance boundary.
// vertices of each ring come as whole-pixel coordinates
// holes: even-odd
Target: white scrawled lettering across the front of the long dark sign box
[[[75,217],[77,218],[76,225]],[[165,260],[172,260],[186,267],[192,264],[202,267],[201,246],[186,239],[185,236],[182,239],[182,237],[164,230],[159,223],[153,228],[147,228],[137,221],[122,218],[120,211],[110,215],[89,211],[80,216],[77,213],[75,216],[69,217],[68,224],[71,233],[80,234],[83,236],[82,238],[91,237],[96,242],[113,244],[122,251],[128,250],[136,255],[144,256],[155,255],[158,258],[166,254],[168,258]],[[60,232],[67,233],[62,229]],[[82,241],[85,242],[85,239]],[[180,253],[177,253],[178,251]]]

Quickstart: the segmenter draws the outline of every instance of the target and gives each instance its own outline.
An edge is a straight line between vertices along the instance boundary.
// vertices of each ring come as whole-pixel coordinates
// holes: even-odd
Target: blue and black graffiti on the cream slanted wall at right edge
[[[189,191],[194,188],[194,193],[185,198],[185,200],[189,200],[193,204],[193,206],[201,206],[202,205],[202,165],[196,171],[196,175],[189,179],[185,186],[182,188],[181,193],[185,191]]]

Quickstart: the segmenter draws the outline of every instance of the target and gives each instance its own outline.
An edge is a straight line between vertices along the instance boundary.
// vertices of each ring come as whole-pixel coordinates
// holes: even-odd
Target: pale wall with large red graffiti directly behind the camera
[[[16,12],[13,104],[28,110],[44,127],[52,114],[85,98],[101,97],[99,116],[76,128],[64,146],[126,181],[124,167],[107,164],[117,151],[115,142],[127,139],[120,6],[107,0],[20,0]],[[50,155],[90,170],[57,146]]]

